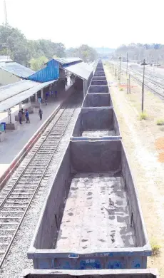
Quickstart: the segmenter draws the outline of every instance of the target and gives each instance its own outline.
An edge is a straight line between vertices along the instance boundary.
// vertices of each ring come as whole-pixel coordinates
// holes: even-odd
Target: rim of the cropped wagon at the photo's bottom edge
[[[122,270],[34,270],[27,269],[19,278],[159,278],[156,269]]]

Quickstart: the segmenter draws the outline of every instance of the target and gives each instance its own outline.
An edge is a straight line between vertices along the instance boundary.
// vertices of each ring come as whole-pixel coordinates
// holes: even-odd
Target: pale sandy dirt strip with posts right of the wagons
[[[111,96],[123,136],[135,185],[138,189],[143,217],[150,244],[160,246],[160,254],[148,259],[148,267],[158,268],[164,277],[164,119],[163,101],[145,91],[146,120],[139,120],[141,110],[141,87],[131,80],[131,93],[119,86],[113,70],[104,66],[106,77],[111,82]],[[121,75],[121,82],[127,82]],[[121,87],[123,91],[120,91]]]

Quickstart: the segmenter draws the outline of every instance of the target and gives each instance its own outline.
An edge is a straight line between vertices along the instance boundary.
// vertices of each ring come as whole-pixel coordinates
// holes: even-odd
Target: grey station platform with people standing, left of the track
[[[69,90],[68,90],[69,89]],[[16,155],[19,155],[19,152],[24,148],[24,146],[29,142],[36,133],[41,125],[46,121],[46,119],[53,113],[54,110],[58,108],[58,105],[61,105],[63,101],[71,93],[71,84],[67,86],[66,91],[58,94],[58,98],[51,98],[51,101],[48,101],[48,104],[43,103],[41,109],[43,110],[43,118],[40,120],[38,109],[36,109],[34,114],[30,114],[30,123],[22,122],[22,125],[17,123],[16,130],[6,130],[5,138],[0,142],[0,183],[1,179],[6,173],[6,170],[10,168],[11,163],[13,163]],[[17,115],[19,112],[19,105],[16,106],[12,117]],[[3,113],[4,114],[4,113]],[[5,115],[5,114],[4,114]],[[1,122],[7,122],[6,118],[0,118]]]

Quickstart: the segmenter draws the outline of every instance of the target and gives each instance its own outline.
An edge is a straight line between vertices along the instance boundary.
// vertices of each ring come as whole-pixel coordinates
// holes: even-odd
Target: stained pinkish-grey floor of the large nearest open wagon
[[[80,173],[73,177],[56,252],[104,252],[134,246],[121,180],[108,173]]]

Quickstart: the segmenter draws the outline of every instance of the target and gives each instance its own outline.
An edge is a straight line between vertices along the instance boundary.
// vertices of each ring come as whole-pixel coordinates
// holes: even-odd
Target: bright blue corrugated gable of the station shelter
[[[43,83],[58,78],[59,78],[59,63],[52,59],[47,63],[46,68],[42,68],[40,71],[36,71],[36,73],[29,76],[27,79]]]

